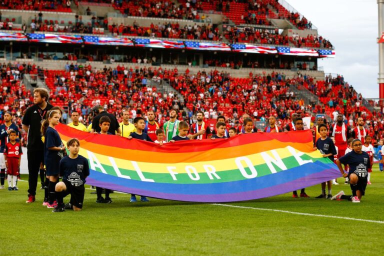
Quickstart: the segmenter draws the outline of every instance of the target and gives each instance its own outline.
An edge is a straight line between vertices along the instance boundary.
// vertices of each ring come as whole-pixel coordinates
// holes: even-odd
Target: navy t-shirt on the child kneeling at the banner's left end
[[[89,176],[88,160],[77,155],[70,158],[68,155],[60,160],[60,173],[63,180],[69,181],[72,186],[80,186],[85,183],[85,177]]]

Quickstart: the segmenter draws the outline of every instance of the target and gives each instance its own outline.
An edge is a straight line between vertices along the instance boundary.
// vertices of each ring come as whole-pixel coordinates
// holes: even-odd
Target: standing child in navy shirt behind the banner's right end
[[[322,157],[328,157],[330,160],[334,160],[333,155],[337,154],[336,148],[331,138],[327,137],[328,127],[321,123],[317,126],[318,133],[321,135],[316,141],[316,148],[321,152]],[[328,185],[328,195],[325,196],[325,183]],[[321,183],[321,194],[315,198],[332,198],[332,180]]]

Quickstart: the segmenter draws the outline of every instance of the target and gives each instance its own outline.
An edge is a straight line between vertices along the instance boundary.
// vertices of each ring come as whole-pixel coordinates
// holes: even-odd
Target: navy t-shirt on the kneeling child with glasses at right
[[[361,151],[361,154],[351,151],[338,158],[342,164],[348,164],[349,174],[355,173],[359,177],[367,178],[370,161],[368,153]]]

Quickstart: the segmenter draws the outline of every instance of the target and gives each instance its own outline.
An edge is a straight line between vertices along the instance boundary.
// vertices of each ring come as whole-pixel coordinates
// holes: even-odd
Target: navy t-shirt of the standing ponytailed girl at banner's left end
[[[58,132],[52,127],[48,126],[45,131],[45,140],[44,140],[44,161],[45,165],[54,164],[60,161],[60,159],[64,156],[62,151],[57,150],[49,150],[49,147],[52,146],[63,146],[64,144],[61,141],[60,135]],[[47,164],[48,163],[48,164]]]

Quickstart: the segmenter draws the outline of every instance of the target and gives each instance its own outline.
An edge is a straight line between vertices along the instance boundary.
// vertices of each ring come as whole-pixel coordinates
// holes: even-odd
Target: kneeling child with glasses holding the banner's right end
[[[344,191],[335,194],[331,200],[351,200],[352,202],[360,202],[361,197],[365,195],[367,184],[368,168],[370,168],[369,155],[361,150],[361,140],[355,138],[352,140],[353,151],[341,156],[337,159],[336,164],[343,177],[349,177],[349,184],[352,195],[345,195]],[[342,164],[348,164],[349,172],[345,173]]]

